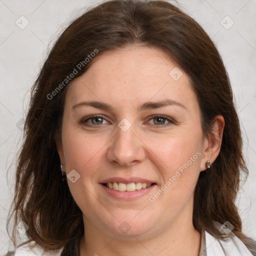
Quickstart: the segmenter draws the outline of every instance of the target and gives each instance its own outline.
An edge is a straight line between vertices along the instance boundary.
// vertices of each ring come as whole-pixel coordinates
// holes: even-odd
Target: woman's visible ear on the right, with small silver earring
[[[208,160],[212,163],[218,156],[222,135],[224,129],[225,121],[222,115],[216,115],[213,125],[212,134],[205,137],[203,140],[203,153],[201,158],[201,170],[205,170],[205,162]]]

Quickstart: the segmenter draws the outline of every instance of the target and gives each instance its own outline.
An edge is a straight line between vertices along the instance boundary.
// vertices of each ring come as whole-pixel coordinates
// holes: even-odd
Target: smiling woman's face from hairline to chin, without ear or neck
[[[128,239],[191,221],[208,155],[188,76],[141,46],[92,61],[68,87],[58,143],[84,225]]]

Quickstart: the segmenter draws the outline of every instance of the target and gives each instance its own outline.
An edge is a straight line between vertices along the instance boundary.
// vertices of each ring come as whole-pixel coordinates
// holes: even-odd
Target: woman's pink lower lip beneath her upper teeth
[[[116,199],[122,199],[122,200],[133,200],[133,199],[139,198],[139,197],[149,193],[156,186],[156,184],[153,184],[146,188],[141,188],[141,189],[135,190],[135,191],[118,191],[118,190],[114,190],[112,188],[108,188],[107,186],[104,186],[103,184],[100,184],[100,185],[105,190],[105,192],[107,194],[109,194],[110,196],[112,196]]]

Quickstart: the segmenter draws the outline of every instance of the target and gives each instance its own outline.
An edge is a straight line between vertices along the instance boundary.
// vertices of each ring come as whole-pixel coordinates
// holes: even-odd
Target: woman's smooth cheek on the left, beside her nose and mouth
[[[71,130],[72,127],[70,127]],[[62,145],[69,190],[77,205],[87,212],[85,205],[95,202],[95,182],[98,170],[102,168],[102,152],[107,140],[101,136],[85,134],[83,131],[63,129]],[[75,182],[68,178],[68,173],[75,170]],[[71,173],[71,172],[70,172]],[[78,175],[78,176],[76,176]]]

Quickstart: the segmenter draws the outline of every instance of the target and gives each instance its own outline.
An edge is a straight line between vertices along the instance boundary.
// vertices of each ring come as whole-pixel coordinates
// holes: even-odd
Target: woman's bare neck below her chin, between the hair
[[[124,240],[103,233],[87,221],[80,241],[80,256],[198,256],[201,234],[194,229],[191,218],[181,217],[174,222],[155,236],[133,235]]]

